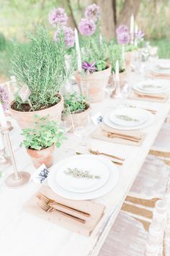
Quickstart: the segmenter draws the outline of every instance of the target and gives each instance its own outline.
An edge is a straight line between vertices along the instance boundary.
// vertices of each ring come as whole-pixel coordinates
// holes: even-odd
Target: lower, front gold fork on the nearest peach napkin
[[[73,216],[70,213],[65,213],[65,212],[63,212],[63,210],[55,209],[52,206],[47,205],[42,200],[40,200],[39,205],[40,205],[40,208],[42,208],[42,210],[44,210],[46,213],[57,212],[57,213],[60,213],[63,216],[66,216],[68,218],[72,218],[74,221],[79,221],[81,223],[86,223],[86,221],[83,218],[79,218],[79,217]]]

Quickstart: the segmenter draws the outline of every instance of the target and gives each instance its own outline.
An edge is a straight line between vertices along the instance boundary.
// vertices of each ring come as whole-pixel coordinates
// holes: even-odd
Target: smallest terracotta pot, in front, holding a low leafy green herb
[[[32,162],[35,168],[39,168],[42,163],[45,164],[47,168],[52,166],[53,164],[53,153],[54,153],[55,145],[51,145],[49,148],[45,148],[42,150],[32,150],[27,148],[27,153],[32,158]]]

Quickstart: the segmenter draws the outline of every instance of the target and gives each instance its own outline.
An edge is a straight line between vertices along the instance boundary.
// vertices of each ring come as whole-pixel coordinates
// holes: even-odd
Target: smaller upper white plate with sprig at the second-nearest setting
[[[114,124],[132,127],[146,121],[146,119],[148,119],[148,114],[141,108],[120,108],[111,111],[109,119]]]

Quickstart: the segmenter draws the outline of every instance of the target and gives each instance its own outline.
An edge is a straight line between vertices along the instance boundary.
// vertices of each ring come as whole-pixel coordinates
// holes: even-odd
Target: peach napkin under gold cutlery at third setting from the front
[[[156,98],[154,98],[154,96],[156,96]],[[157,97],[160,97],[160,98],[157,98]],[[136,92],[135,90],[133,90],[128,95],[128,98],[133,99],[133,100],[139,100],[139,101],[156,101],[156,102],[164,103],[169,98],[169,95],[166,93],[161,93],[161,94],[148,94],[147,93],[146,94],[146,93],[139,93],[139,92]]]

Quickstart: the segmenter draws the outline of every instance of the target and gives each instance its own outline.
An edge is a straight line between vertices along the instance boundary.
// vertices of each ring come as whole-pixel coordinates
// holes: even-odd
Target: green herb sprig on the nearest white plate
[[[100,179],[100,176],[92,175],[89,171],[84,171],[79,168],[68,168],[64,173],[76,179]]]

